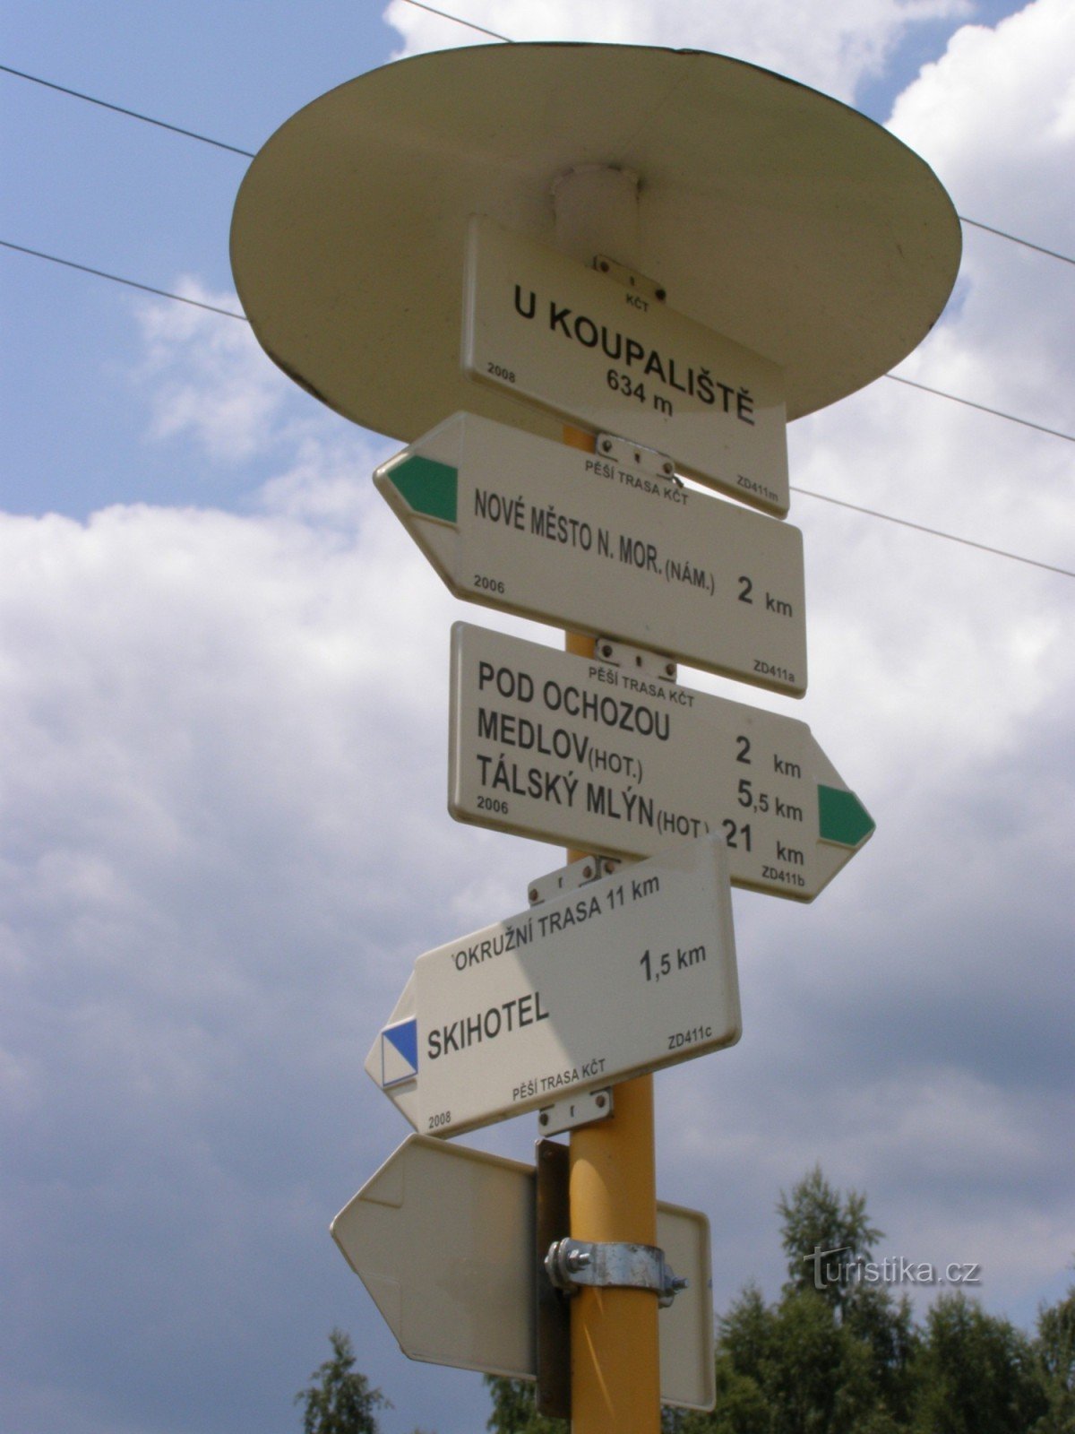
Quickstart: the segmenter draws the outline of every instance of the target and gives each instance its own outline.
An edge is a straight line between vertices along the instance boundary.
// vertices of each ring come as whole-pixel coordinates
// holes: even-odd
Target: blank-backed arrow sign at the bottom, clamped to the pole
[[[532,1166],[410,1136],[333,1239],[408,1358],[535,1378]],[[658,1202],[656,1242],[689,1281],[658,1315],[661,1400],[712,1408],[710,1223]]]

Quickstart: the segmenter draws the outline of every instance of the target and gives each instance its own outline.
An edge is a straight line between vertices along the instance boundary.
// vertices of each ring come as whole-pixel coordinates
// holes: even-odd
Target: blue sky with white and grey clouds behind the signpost
[[[447,6],[444,7],[447,9]],[[1064,0],[467,0],[517,39],[695,46],[860,105],[960,214],[1075,252]],[[387,19],[386,19],[387,16]],[[60,3],[0,63],[245,149],[403,53],[387,7]],[[236,307],[245,163],[10,75],[0,238]],[[969,229],[900,371],[1066,433],[1071,265]],[[397,445],[248,326],[10,251],[0,476],[0,1424],[298,1427],[351,1331],[387,1434],[484,1425],[327,1235],[407,1133],[361,1064],[414,958],[516,911],[550,847],[444,810],[452,599],[373,492]],[[1072,445],[884,380],[790,430],[791,482],[1071,569]],[[735,893],[738,1047],[658,1077],[661,1196],[717,1306],[781,1281],[814,1162],[882,1255],[976,1260],[1031,1324],[1071,1278],[1072,581],[793,495],[807,720],[877,817],[818,901]],[[466,1137],[529,1159],[529,1119]]]

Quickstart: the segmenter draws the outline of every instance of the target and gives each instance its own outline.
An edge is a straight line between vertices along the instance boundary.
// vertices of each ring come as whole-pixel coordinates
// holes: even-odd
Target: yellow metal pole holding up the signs
[[[593,452],[593,435],[563,442]],[[593,657],[593,638],[566,632],[569,652]],[[568,850],[568,860],[585,852]],[[570,1134],[570,1235],[656,1245],[654,1077],[624,1081],[615,1114]],[[656,1295],[579,1286],[570,1302],[570,1401],[575,1434],[658,1434],[661,1359]]]

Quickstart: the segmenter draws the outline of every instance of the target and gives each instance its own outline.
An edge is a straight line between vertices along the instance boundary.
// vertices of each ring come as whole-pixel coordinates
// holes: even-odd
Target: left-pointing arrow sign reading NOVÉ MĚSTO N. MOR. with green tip
[[[374,482],[457,597],[801,695],[800,531],[611,447],[457,413]]]

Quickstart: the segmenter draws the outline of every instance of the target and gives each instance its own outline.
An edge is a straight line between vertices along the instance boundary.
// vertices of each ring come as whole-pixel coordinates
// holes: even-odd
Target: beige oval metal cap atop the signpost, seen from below
[[[235,282],[269,357],[330,407],[411,442],[457,410],[558,437],[460,364],[467,221],[553,247],[558,179],[638,176],[629,262],[784,371],[787,416],[880,377],[956,278],[929,166],[817,90],[720,54],[497,44],[341,85],[265,143],[239,189]]]

